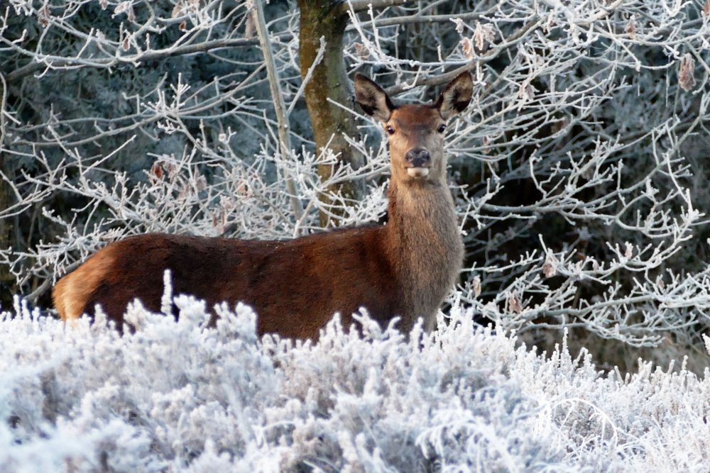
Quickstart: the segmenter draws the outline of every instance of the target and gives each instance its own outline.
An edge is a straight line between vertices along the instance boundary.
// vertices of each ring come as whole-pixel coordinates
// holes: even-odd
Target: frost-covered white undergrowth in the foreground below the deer
[[[362,319],[320,343],[258,340],[246,306],[179,297],[179,321],[0,317],[3,472],[702,471],[710,374],[621,378],[538,356],[454,306],[406,340]]]

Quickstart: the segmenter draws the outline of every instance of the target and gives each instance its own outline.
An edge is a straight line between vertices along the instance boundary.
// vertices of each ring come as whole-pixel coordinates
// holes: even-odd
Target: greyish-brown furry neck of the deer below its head
[[[391,181],[388,196],[388,252],[398,284],[407,285],[400,328],[408,330],[423,317],[430,329],[463,262],[454,199],[444,179],[423,184]]]

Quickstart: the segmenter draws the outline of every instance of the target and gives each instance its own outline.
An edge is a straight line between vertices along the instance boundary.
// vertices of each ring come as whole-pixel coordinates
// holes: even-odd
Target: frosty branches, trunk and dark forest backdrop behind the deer
[[[351,77],[420,101],[469,69],[447,138],[466,243],[451,300],[540,346],[569,328],[601,367],[706,366],[707,1],[272,1],[263,28],[254,5],[5,7],[5,307],[49,307],[125,235],[385,221],[383,132]]]

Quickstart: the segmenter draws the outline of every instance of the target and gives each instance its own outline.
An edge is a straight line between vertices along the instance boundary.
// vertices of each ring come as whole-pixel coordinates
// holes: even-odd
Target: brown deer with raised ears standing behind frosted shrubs
[[[60,279],[55,307],[67,321],[100,304],[121,329],[134,298],[160,310],[163,272],[170,269],[173,294],[192,294],[209,306],[253,306],[260,334],[316,340],[335,312],[349,326],[360,307],[381,325],[400,316],[398,328],[408,332],[423,317],[431,330],[464,255],[447,187],[445,124],[466,108],[471,91],[464,72],[434,104],[395,106],[376,83],[356,75],[356,101],[389,138],[386,225],[284,241],[137,235],[107,245]]]

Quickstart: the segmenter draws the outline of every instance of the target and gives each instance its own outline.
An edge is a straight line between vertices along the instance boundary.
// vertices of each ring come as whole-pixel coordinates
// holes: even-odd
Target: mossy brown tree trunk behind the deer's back
[[[352,106],[349,79],[345,73],[343,58],[343,36],[349,18],[342,9],[342,4],[332,0],[298,0],[300,8],[300,62],[301,78],[305,79],[310,67],[315,62],[320,38],[326,41],[322,60],[313,69],[310,82],[305,87],[305,100],[313,126],[316,152],[330,148],[339,157],[339,163],[349,164],[357,169],[364,164],[364,157],[352,149],[342,134],[354,136],[357,133],[355,120],[346,109],[331,104],[328,99]],[[318,174],[322,180],[328,179],[334,172],[332,166],[321,165]],[[340,192],[347,199],[361,199],[364,196],[364,183],[360,180],[344,182],[328,189]],[[324,204],[330,199],[322,196]],[[337,212],[336,212],[337,213]],[[332,217],[321,212],[321,226],[332,225]]]

